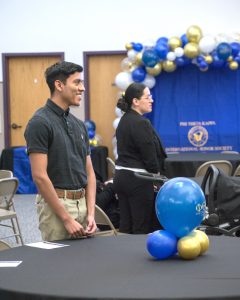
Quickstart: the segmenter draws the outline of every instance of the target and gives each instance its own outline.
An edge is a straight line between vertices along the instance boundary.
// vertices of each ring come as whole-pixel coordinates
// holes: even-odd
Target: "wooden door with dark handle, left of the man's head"
[[[26,144],[26,125],[33,113],[42,107],[50,96],[44,72],[48,66],[62,59],[62,54],[8,57],[8,101],[5,101],[8,109],[5,111],[9,114],[5,122],[5,136],[8,137],[6,146]]]

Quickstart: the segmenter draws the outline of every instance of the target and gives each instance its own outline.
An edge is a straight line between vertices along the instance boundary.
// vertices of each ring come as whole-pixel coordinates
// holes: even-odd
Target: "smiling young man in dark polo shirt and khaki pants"
[[[25,139],[43,240],[79,238],[96,231],[96,179],[87,130],[70,112],[85,88],[83,68],[70,62],[50,66],[45,77],[51,98],[29,121]]]

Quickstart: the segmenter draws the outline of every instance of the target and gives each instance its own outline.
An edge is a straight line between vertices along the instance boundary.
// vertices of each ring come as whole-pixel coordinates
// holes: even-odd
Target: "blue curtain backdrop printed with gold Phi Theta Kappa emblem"
[[[162,72],[146,115],[168,152],[240,151],[240,71],[201,72],[188,65]]]

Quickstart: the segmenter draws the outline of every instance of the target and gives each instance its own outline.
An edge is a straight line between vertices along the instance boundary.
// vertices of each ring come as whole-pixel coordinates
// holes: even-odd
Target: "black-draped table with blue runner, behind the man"
[[[98,146],[91,149],[93,168],[97,179],[101,181],[108,179],[107,156],[108,148],[106,146]],[[12,171],[13,175],[19,179],[18,194],[37,193],[25,146],[3,149],[0,158],[0,169]]]

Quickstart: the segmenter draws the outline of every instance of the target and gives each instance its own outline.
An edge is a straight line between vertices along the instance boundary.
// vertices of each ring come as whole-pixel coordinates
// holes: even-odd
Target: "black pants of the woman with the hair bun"
[[[137,178],[132,171],[116,170],[113,188],[119,199],[120,232],[145,234],[161,228],[152,182]]]

